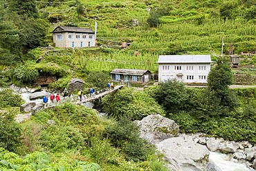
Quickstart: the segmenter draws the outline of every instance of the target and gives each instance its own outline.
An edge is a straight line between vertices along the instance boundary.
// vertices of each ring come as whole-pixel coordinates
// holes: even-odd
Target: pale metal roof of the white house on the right
[[[212,63],[210,54],[159,55],[156,63]]]

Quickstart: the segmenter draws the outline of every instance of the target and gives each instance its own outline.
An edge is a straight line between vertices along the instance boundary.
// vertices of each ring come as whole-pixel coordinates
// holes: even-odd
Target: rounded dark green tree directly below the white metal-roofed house
[[[156,90],[155,98],[167,112],[176,112],[185,108],[189,94],[184,83],[172,79],[160,84],[160,88]]]

